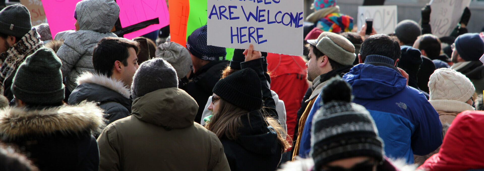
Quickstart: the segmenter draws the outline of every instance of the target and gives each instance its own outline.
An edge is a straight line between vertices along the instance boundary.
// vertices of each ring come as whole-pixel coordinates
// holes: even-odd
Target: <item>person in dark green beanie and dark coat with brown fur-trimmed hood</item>
[[[0,110],[1,141],[20,147],[41,171],[97,171],[91,132],[104,128],[103,112],[89,102],[64,105],[61,65],[52,49],[40,48],[18,66],[15,107]]]

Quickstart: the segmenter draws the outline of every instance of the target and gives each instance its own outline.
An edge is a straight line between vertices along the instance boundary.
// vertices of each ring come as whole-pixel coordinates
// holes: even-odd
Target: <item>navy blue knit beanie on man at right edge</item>
[[[455,49],[466,61],[479,60],[484,54],[484,42],[479,33],[466,33],[455,39]]]

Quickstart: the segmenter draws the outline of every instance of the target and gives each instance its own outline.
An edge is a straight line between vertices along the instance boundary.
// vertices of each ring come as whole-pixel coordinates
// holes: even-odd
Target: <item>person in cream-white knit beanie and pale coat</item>
[[[472,95],[474,95],[475,88],[464,74],[448,68],[435,70],[430,75],[428,87],[430,90],[430,100],[428,101],[439,113],[442,136],[444,136],[457,114],[466,110],[474,110]],[[438,153],[439,149],[440,147],[425,156],[415,156],[415,163],[423,164],[428,157]]]

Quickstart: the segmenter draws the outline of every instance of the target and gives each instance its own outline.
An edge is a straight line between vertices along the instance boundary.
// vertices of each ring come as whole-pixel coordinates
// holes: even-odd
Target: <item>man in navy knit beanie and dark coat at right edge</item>
[[[466,33],[460,35],[452,44],[451,69],[458,71],[470,79],[476,93],[481,94],[484,90],[484,65],[479,58],[484,54],[484,42],[479,33]]]

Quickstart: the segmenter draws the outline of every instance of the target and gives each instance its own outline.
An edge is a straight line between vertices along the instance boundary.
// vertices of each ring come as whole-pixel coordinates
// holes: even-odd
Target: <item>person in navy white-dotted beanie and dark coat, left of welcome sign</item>
[[[203,106],[212,96],[212,89],[220,80],[222,71],[227,67],[225,47],[207,45],[207,25],[197,28],[188,36],[186,48],[190,52],[193,64],[193,79],[180,88],[197,101],[198,108],[195,122],[200,123]]]

